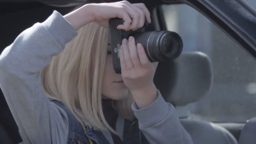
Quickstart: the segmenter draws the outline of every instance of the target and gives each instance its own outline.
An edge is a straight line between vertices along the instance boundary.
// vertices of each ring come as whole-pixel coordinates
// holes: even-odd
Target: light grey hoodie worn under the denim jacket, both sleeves
[[[67,114],[46,97],[40,70],[76,35],[74,27],[54,11],[43,23],[21,32],[0,55],[0,87],[26,144],[67,143]],[[132,104],[139,128],[151,144],[192,144],[175,108],[158,93],[157,100],[144,109]],[[105,133],[112,143],[109,132]]]

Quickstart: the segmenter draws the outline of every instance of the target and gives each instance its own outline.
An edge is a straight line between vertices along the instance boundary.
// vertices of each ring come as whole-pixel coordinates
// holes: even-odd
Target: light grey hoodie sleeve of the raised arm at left
[[[45,96],[40,71],[77,35],[54,11],[24,30],[0,55],[0,87],[26,144],[65,144],[66,113]]]

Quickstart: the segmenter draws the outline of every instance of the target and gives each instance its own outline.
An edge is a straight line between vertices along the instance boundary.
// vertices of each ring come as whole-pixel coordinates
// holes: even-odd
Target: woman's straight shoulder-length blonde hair
[[[81,27],[77,36],[42,69],[41,77],[46,95],[65,104],[80,123],[88,121],[93,128],[115,133],[105,120],[101,105],[108,37],[109,29],[95,22]],[[132,101],[131,95],[115,101],[116,111],[133,118]]]

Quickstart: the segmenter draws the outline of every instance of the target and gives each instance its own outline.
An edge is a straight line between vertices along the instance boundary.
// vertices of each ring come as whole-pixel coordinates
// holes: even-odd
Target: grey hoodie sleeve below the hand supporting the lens
[[[179,121],[172,104],[165,102],[158,90],[157,99],[148,107],[132,109],[139,121],[139,128],[150,144],[193,144],[192,139]]]

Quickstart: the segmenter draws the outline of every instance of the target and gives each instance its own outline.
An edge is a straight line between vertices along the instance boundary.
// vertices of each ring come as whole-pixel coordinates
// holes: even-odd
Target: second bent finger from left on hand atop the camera
[[[139,13],[137,13],[137,11],[135,11],[134,9],[129,7],[128,5],[125,6],[125,10],[127,11],[127,13],[129,14],[129,16],[132,19],[129,29],[132,29],[132,30],[138,29]]]

